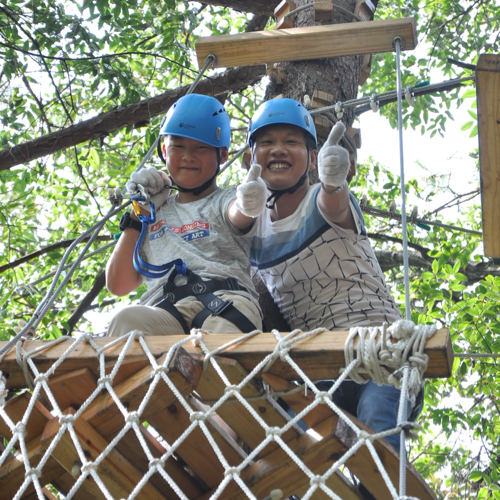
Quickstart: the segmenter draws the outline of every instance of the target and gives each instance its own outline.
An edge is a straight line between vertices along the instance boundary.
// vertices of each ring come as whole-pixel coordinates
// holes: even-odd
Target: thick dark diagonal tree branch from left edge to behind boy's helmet
[[[233,68],[216,77],[201,80],[196,87],[196,92],[214,96],[226,93],[228,90],[239,92],[250,85],[255,85],[265,74],[266,67],[262,64]],[[186,85],[168,90],[159,96],[102,113],[58,132],[4,149],[0,151],[0,171],[82,142],[99,139],[135,123],[149,121],[155,116],[166,113],[170,106],[188,91],[189,87]]]

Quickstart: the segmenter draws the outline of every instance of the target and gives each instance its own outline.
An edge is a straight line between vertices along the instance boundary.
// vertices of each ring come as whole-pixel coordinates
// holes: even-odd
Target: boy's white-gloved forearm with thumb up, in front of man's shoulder
[[[267,188],[260,177],[262,167],[250,167],[244,181],[236,190],[236,199],[228,205],[227,216],[231,224],[239,230],[248,229],[266,204]]]

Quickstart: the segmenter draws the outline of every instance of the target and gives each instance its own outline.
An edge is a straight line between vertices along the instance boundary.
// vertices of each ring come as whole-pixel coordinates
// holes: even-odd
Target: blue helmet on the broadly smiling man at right
[[[295,99],[271,99],[261,104],[248,127],[248,145],[253,146],[255,134],[268,125],[295,125],[305,130],[314,139],[314,148],[318,147],[316,127],[309,111]]]

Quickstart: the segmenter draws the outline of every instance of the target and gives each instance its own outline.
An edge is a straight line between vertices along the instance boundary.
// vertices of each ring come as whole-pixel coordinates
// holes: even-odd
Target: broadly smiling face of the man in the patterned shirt
[[[271,189],[288,189],[304,174],[307,165],[305,132],[295,125],[269,125],[257,133],[253,163],[262,166],[262,178]],[[316,151],[309,152],[314,168]]]

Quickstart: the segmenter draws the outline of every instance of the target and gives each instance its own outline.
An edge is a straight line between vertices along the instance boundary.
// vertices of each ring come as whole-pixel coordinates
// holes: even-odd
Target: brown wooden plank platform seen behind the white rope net
[[[319,360],[321,357],[328,357],[335,351],[327,344],[331,343],[334,336],[339,335],[339,333],[341,332],[328,332],[327,335],[319,335],[316,340],[311,339],[305,342],[300,349],[294,350],[294,357],[300,357],[300,353],[313,353],[314,363],[324,365],[321,369],[326,370],[327,363],[319,363]],[[210,348],[212,349],[217,344],[225,343],[230,337],[234,336],[210,335],[206,336],[205,339],[207,343],[211,344]],[[173,344],[172,340],[178,340],[178,337],[176,339],[171,337],[147,338],[148,345],[154,351],[159,363],[165,359],[165,352]],[[109,339],[101,339],[99,344],[105,345],[109,341]],[[448,342],[449,335],[443,330],[428,341],[426,352],[428,354],[434,353],[433,363],[435,366],[432,370],[433,373],[441,374],[438,376],[446,376],[451,367],[451,365],[447,366],[451,359],[450,354],[447,353]],[[38,343],[27,344],[25,348],[28,350],[34,348]],[[247,376],[248,369],[255,362],[255,359],[261,359],[271,345],[273,342],[269,334],[262,334],[255,340],[234,347],[224,357],[217,357],[216,360],[229,383],[236,385]],[[250,350],[251,348],[256,349],[257,346],[259,346],[259,352]],[[35,359],[37,366],[48,367],[49,362],[53,362],[58,355],[60,356],[63,347],[57,346],[40,355],[40,359]],[[176,389],[187,398],[191,408],[202,411],[224,394],[226,385],[211,364],[208,364],[205,371],[202,370],[201,361],[196,359],[199,357],[199,348],[190,347],[188,344],[185,347],[186,350],[178,351],[174,361],[170,364],[168,376]],[[188,351],[192,352],[193,355]],[[440,356],[436,355],[437,352],[441,353]],[[82,345],[82,348],[78,349],[78,352],[64,363],[61,373],[49,378],[50,391],[65,414],[74,415],[97,387],[98,367],[95,363],[90,363],[90,354],[87,347]],[[108,360],[107,372],[114,366],[117,354],[118,352],[110,350],[109,356],[106,356]],[[95,360],[95,353],[93,353],[93,357]],[[239,358],[240,362],[235,358]],[[80,367],[82,363],[88,363],[89,366]],[[245,364],[247,368],[245,368]],[[125,359],[114,379],[114,392],[129,412],[139,408],[154,377],[152,367],[149,364],[142,365],[144,365],[144,360],[139,354],[138,346],[134,345],[131,356]],[[6,368],[9,368],[11,373],[9,380],[19,378],[14,370],[12,354],[9,354],[0,365],[0,369]],[[333,370],[338,371],[338,368],[339,364],[337,363]],[[333,373],[333,370],[328,373]],[[286,370],[278,371],[286,376],[290,375]],[[270,387],[278,391],[293,386],[289,381],[273,374],[264,374],[262,378]],[[262,419],[268,426],[283,428],[289,422],[290,417],[276,404],[274,399],[271,399],[269,395],[266,396],[267,393],[264,392],[258,381],[248,382],[241,389],[241,394],[245,398],[264,394],[260,400],[250,404],[259,419]],[[11,399],[5,405],[5,412],[14,424],[22,420],[30,398],[31,395],[25,392]],[[301,392],[292,396],[284,396],[284,398],[296,412],[301,411],[311,402],[310,393],[306,396]],[[43,399],[48,399],[46,394],[43,394]],[[350,418],[358,426],[366,429],[354,417]],[[160,458],[164,455],[167,449],[174,445],[185,429],[191,425],[188,412],[162,380],[156,386],[149,404],[142,412],[140,421],[147,422],[147,426],[141,426],[140,433],[154,458]],[[356,435],[350,427],[327,406],[319,405],[311,410],[304,418],[304,422],[314,432],[305,432],[292,426],[282,434],[282,439],[314,474],[326,472],[356,442]],[[118,410],[112,395],[108,394],[107,391],[100,392],[74,425],[76,438],[83,448],[86,459],[96,460],[124,425],[124,416]],[[242,404],[234,401],[220,406],[217,415],[208,419],[207,426],[210,435],[230,467],[241,464],[248,456],[247,454],[251,450],[255,450],[266,435],[265,430],[254,416]],[[49,412],[46,404],[35,401],[26,426],[27,452],[32,467],[35,467],[41,460],[57,436],[59,429],[59,419]],[[11,438],[10,429],[1,417],[0,434],[6,439]],[[397,488],[399,475],[397,451],[385,441],[377,442],[375,447]],[[380,473],[376,470],[373,458],[366,446],[362,446],[347,461],[346,465],[377,500],[389,497],[387,487]],[[43,467],[40,482],[42,486],[51,484],[62,494],[67,494],[81,473],[79,466],[81,466],[80,457],[70,434],[66,431]],[[139,443],[138,436],[133,430],[130,430],[116,444],[113,451],[101,461],[97,472],[113,498],[118,499],[126,498],[148,472],[148,469],[149,459]],[[223,465],[214,453],[207,436],[199,427],[175,450],[174,455],[166,460],[164,470],[168,474],[169,481],[165,480],[159,473],[154,473],[136,498],[174,500],[178,498],[175,489],[179,488],[190,500],[208,500],[225,477]],[[13,498],[25,479],[25,473],[25,466],[22,460],[19,460],[18,444],[16,451],[0,468],[0,498]],[[283,498],[293,493],[300,496],[310,486],[309,477],[274,441],[262,448],[254,460],[243,469],[241,479],[259,500],[268,498],[270,492],[277,488],[283,491]],[[433,492],[411,465],[407,465],[407,484],[408,495],[416,496],[420,500],[436,499]],[[345,500],[363,499],[357,487],[340,472],[331,475],[326,481],[326,485]],[[36,498],[33,485],[30,485],[22,498]],[[105,496],[94,479],[89,477],[82,482],[74,498],[77,500],[104,499]],[[241,487],[232,480],[219,498],[243,500],[247,496]],[[317,490],[313,498],[323,499],[327,496],[322,491]]]

